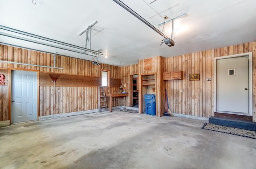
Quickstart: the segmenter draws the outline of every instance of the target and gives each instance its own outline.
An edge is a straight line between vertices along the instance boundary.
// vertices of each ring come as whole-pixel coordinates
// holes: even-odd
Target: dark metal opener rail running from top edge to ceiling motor
[[[131,8],[129,8],[128,6],[126,6],[126,4],[124,4],[122,1],[120,0],[113,0],[114,2],[116,2],[118,5],[122,6],[124,9],[126,9],[128,12],[130,12],[131,14],[133,14],[136,18],[138,18],[139,20],[141,20],[142,22],[144,22],[144,24],[148,25],[150,28],[152,28],[154,31],[156,31],[158,34],[160,34],[161,36],[163,36],[164,38],[168,39],[168,37],[166,35],[164,35],[162,32],[160,32],[158,29],[156,29],[152,24],[150,24],[148,21],[146,21],[144,18],[142,18],[139,14],[137,14],[136,12],[134,12],[134,10],[132,10]]]

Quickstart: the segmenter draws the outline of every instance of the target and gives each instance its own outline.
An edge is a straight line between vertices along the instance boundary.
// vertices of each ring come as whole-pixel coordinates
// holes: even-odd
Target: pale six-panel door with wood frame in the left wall
[[[12,123],[37,120],[37,72],[12,71]]]

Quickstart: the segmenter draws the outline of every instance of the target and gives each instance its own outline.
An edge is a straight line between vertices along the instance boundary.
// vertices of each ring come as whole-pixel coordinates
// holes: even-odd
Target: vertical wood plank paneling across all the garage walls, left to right
[[[253,53],[253,121],[256,121],[256,42],[172,58],[155,57],[152,58],[152,71],[144,71],[143,60],[140,60],[138,64],[120,68],[106,64],[96,66],[89,61],[59,55],[56,55],[56,67],[62,67],[64,70],[6,63],[0,63],[0,68],[38,70],[45,73],[58,73],[62,76],[68,74],[93,77],[101,77],[102,70],[110,70],[110,78],[122,79],[122,83],[130,82],[131,74],[152,72],[158,72],[159,74],[162,71],[183,70],[184,80],[165,81],[161,87],[158,87],[160,89],[158,92],[162,93],[162,90],[167,89],[170,109],[174,113],[210,117],[214,110],[214,58],[246,52]],[[54,66],[53,58],[52,54],[0,45],[0,60],[4,61]],[[188,76],[191,73],[199,73],[200,81],[189,81]],[[212,81],[206,81],[206,78],[212,78]],[[162,80],[162,73],[158,76],[158,80],[160,79]],[[0,109],[0,121],[10,119],[8,117],[9,87],[10,84],[0,86],[0,107],[3,107]],[[56,92],[58,89],[60,89],[61,94]],[[180,89],[182,89],[182,93]],[[118,87],[105,88],[106,93],[116,93],[118,90]],[[96,86],[58,86],[56,91],[54,92],[52,86],[40,86],[40,115],[98,108],[98,89]],[[161,94],[158,99],[162,99],[164,103],[163,98],[164,96]],[[109,105],[108,98],[107,103]],[[130,100],[125,97],[114,98],[112,103],[113,106],[130,106]],[[160,103],[160,105],[163,103]]]

